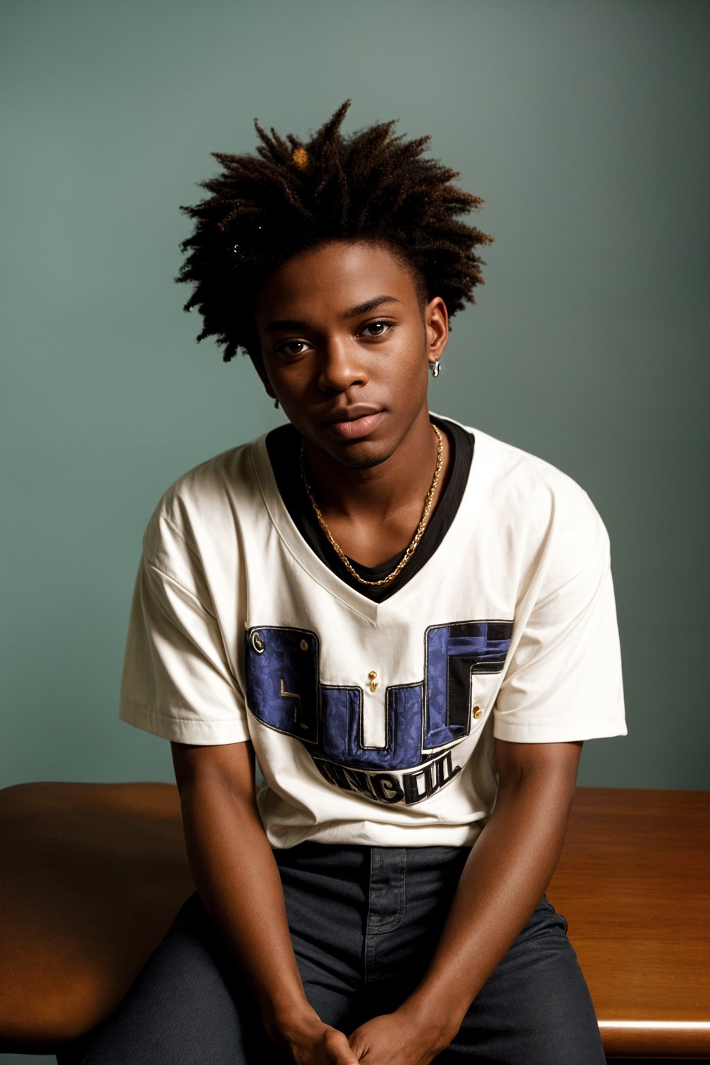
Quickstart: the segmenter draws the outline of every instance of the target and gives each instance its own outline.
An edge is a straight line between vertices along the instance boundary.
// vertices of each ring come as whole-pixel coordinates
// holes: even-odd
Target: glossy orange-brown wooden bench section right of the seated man
[[[710,791],[578,788],[547,895],[607,1055],[710,1059]]]

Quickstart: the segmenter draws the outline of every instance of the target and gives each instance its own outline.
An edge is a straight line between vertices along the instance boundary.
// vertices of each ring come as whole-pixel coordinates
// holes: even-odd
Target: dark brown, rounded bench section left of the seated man
[[[103,1020],[194,889],[175,785],[0,790],[0,1054]]]

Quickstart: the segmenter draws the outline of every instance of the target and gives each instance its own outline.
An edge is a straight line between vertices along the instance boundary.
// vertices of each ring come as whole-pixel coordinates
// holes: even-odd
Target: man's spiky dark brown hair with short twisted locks
[[[424,159],[430,137],[404,141],[394,121],[343,136],[347,100],[307,144],[270,136],[254,119],[255,155],[213,152],[224,173],[201,182],[212,195],[181,211],[195,219],[177,281],[195,285],[198,341],[215,337],[224,361],[243,348],[259,359],[253,305],[259,289],[293,256],[328,241],[389,247],[413,272],[423,302],[441,296],[449,316],[483,283],[475,253],[492,237],[458,220],[481,206],[452,184],[459,175]]]

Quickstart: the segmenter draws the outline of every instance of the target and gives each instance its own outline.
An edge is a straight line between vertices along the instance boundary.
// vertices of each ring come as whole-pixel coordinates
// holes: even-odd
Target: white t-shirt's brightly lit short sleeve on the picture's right
[[[587,495],[552,540],[514,627],[494,736],[518,743],[625,736],[609,537]]]

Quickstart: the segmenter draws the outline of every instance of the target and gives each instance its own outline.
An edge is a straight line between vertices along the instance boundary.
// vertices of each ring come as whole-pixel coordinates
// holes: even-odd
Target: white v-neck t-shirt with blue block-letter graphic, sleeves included
[[[554,466],[479,430],[453,522],[375,603],[302,539],[266,438],[167,490],[144,537],[120,717],[251,740],[274,847],[470,846],[494,737],[626,734],[609,539]]]

